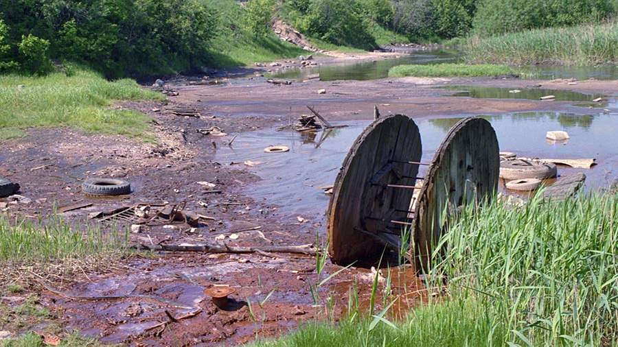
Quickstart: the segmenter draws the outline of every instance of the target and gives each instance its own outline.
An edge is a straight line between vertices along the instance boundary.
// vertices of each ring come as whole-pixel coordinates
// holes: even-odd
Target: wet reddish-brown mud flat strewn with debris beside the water
[[[389,53],[389,56],[391,54],[400,55]],[[374,57],[370,54],[369,58]],[[5,143],[7,150],[0,154],[3,163],[0,176],[19,182],[22,195],[31,198],[32,202],[11,204],[4,213],[10,218],[45,218],[52,213],[54,206],[92,202],[91,207],[64,214],[74,224],[81,224],[87,221],[87,214],[94,211],[108,211],[137,202],[186,202],[190,211],[214,219],[193,232],[162,226],[146,228],[131,234],[131,241],[200,243],[212,241],[218,235],[229,237],[236,233],[238,239],[228,239],[231,245],[313,243],[316,233],[321,237],[324,235],[324,226],[319,221],[281,219],[275,213],[277,204],[251,196],[249,187],[260,178],[246,165],[217,163],[217,148],[227,146],[233,136],[242,136],[243,132],[288,123],[307,113],[307,105],[314,106],[332,121],[372,119],[374,105],[378,105],[382,115],[403,113],[413,118],[531,110],[588,112],[588,108],[573,106],[573,101],[461,98],[450,96],[453,91],[435,88],[455,85],[534,86],[605,95],[616,95],[618,91],[617,81],[586,80],[572,85],[564,80],[490,78],[310,80],[273,85],[264,77],[246,77],[215,86],[168,84],[166,88],[177,91],[179,95],[169,97],[167,105],[155,102],[119,104],[152,117],[152,132],[158,139],[156,145],[121,136],[89,135],[66,129],[34,129],[23,139]],[[319,94],[320,89],[325,89],[325,93]],[[164,110],[165,106],[194,108],[200,117],[153,111],[155,108]],[[198,128],[213,125],[222,128],[228,136],[205,136],[196,132]],[[33,170],[37,167],[43,168]],[[129,180],[134,192],[122,198],[104,200],[88,198],[80,192],[84,178],[107,176]],[[216,187],[206,189],[196,183],[201,181],[212,182]],[[211,190],[220,193],[211,193]],[[260,232],[239,231],[258,227]],[[161,331],[151,331],[148,328],[165,320],[165,309],[170,309],[161,302],[135,298],[87,301],[58,296],[37,286],[31,289],[41,294],[44,306],[58,312],[64,326],[78,329],[102,342],[133,346],[210,346],[244,343],[253,339],[255,332],[262,337],[276,336],[297,328],[302,322],[322,319],[331,313],[339,317],[345,312],[347,293],[354,283],[360,291],[361,302],[368,300],[374,276],[374,272],[363,267],[345,270],[319,289],[322,298],[334,298],[334,307],[326,307],[323,302],[320,302],[321,306],[314,304],[310,283],[319,282],[320,278],[340,267],[328,263],[325,274],[317,274],[315,259],[310,256],[167,253],[155,259],[132,259],[127,265],[130,267],[122,271],[76,278],[75,283],[60,289],[82,296],[152,294],[200,307],[201,313],[194,318],[172,322]],[[397,276],[401,283],[399,287],[396,285],[396,292],[422,288],[422,282],[409,270],[404,269]],[[216,284],[229,284],[238,289],[238,294],[233,296],[234,309],[217,309],[203,294],[204,289]],[[273,294],[264,305],[256,304],[271,291]],[[425,298],[426,293],[422,291],[417,296],[406,296],[405,302],[396,305],[398,312],[403,314],[408,307]],[[257,310],[257,320],[250,314],[247,301]],[[173,309],[170,312],[177,317],[184,311]]]

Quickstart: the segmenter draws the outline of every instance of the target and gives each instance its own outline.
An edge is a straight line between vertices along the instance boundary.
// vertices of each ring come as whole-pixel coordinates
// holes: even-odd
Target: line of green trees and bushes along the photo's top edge
[[[249,0],[238,24],[270,34],[283,16],[313,38],[375,48],[378,25],[411,41],[614,16],[618,0]],[[77,62],[107,77],[190,71],[209,64],[220,13],[203,0],[0,0],[0,72],[45,74],[51,60]]]

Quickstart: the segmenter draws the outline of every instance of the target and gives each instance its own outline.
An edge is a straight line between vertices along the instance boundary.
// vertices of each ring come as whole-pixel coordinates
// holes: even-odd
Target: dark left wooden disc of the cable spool
[[[398,242],[402,226],[412,225],[409,208],[421,156],[418,127],[404,115],[378,119],[358,136],[326,213],[334,263],[374,259],[385,244]]]

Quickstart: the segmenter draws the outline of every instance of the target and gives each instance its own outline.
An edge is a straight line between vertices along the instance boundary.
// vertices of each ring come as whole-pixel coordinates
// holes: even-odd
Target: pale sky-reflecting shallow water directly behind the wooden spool
[[[618,178],[618,137],[614,134],[618,123],[617,101],[610,101],[608,108],[608,113],[591,110],[590,115],[526,112],[486,119],[496,130],[501,150],[527,157],[597,158],[598,165],[592,169],[560,166],[558,173],[584,172],[588,176],[587,189],[599,189]],[[459,119],[417,120],[422,136],[423,160],[433,158],[446,132]],[[319,187],[334,182],[348,149],[368,124],[369,121],[350,121],[347,128],[315,133],[293,130],[247,132],[238,136],[233,149],[220,149],[217,160],[220,163],[260,162],[249,170],[262,180],[246,187],[245,193],[281,206],[278,211],[282,217],[300,215],[312,221],[323,221],[330,195],[325,195]],[[549,130],[566,130],[571,139],[562,144],[548,143],[545,133]],[[285,145],[290,151],[265,153],[264,148],[269,145]]]

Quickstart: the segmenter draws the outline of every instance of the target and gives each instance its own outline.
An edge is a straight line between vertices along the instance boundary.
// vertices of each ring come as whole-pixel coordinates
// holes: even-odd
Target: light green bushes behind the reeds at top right
[[[474,32],[481,36],[570,26],[615,14],[615,0],[481,0]]]

